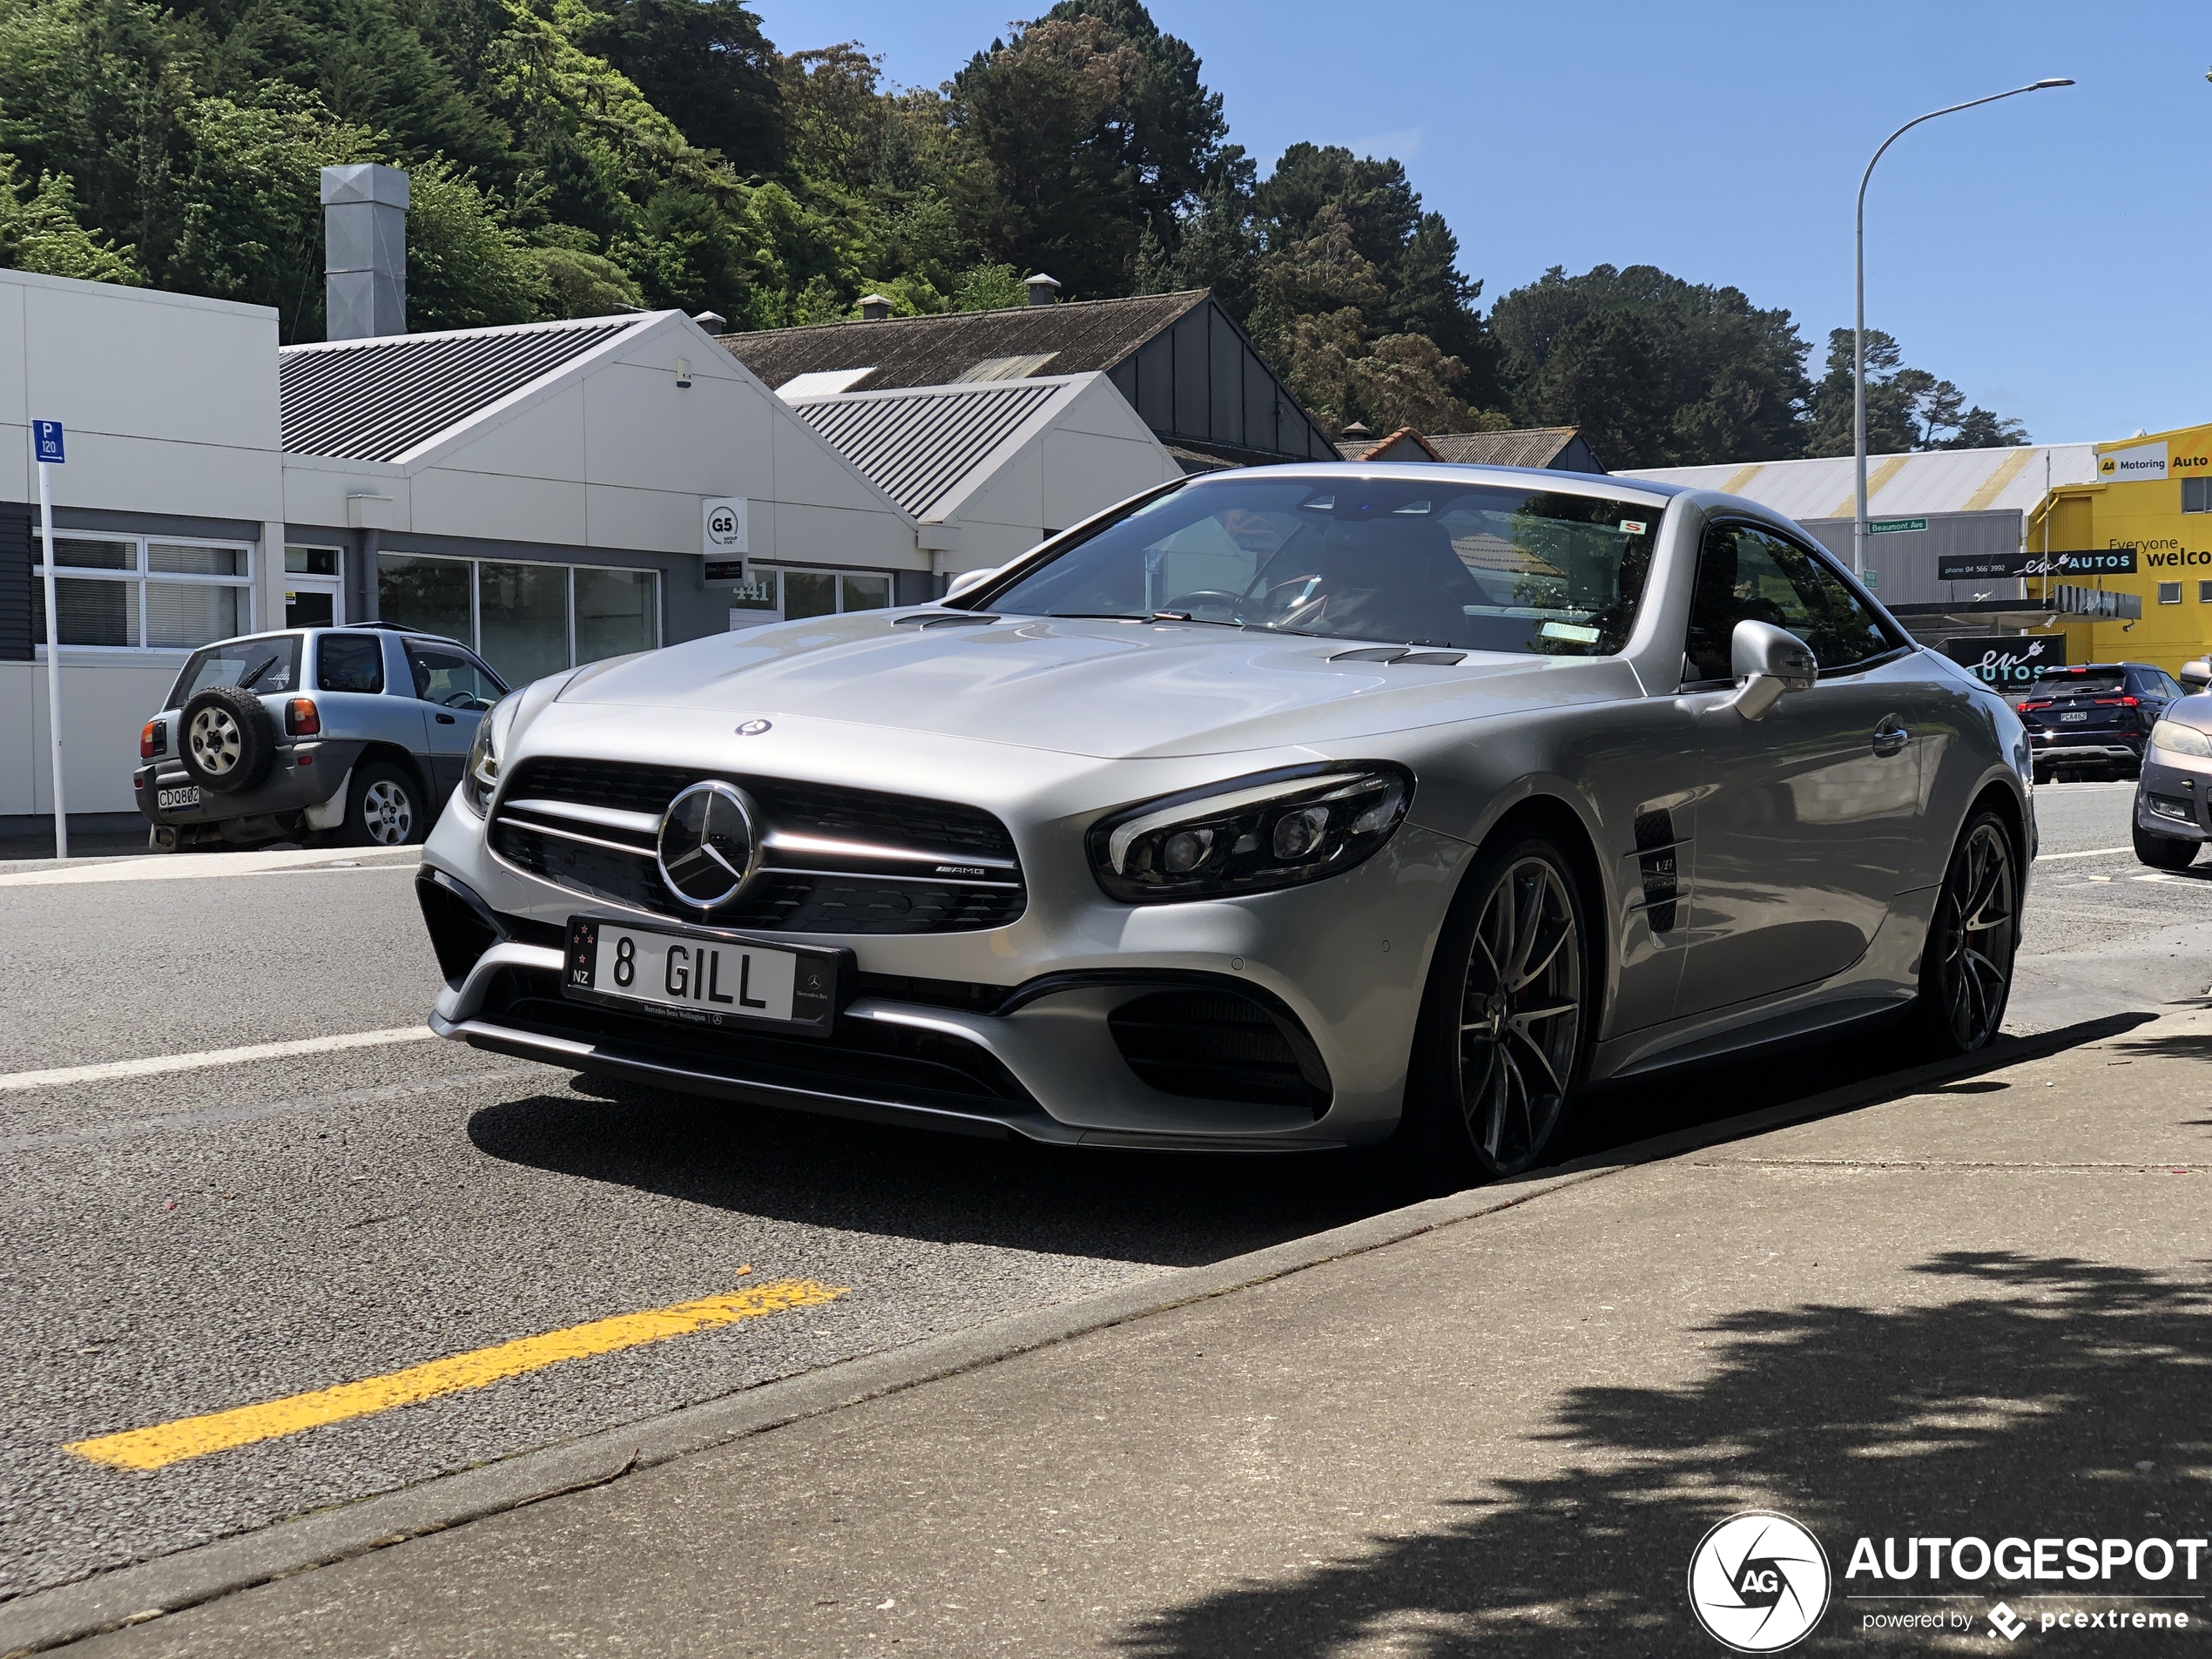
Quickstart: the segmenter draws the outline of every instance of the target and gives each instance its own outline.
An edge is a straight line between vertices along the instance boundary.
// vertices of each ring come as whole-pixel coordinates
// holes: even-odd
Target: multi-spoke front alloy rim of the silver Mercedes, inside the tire
[[[1460,993],[1460,1110],[1495,1172],[1551,1141],[1579,1042],[1575,905],[1548,858],[1520,858],[1482,898]]]

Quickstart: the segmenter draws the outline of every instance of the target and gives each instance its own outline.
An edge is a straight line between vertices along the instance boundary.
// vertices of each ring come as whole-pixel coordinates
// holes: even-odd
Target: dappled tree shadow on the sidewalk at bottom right
[[[1871,1608],[1938,1606],[1845,1601],[1933,1588],[1847,1584],[1860,1535],[1876,1548],[1887,1535],[2205,1535],[2203,1283],[2008,1252],[1942,1254],[1920,1272],[1971,1290],[1924,1307],[1723,1318],[1705,1332],[1701,1383],[1568,1394],[1542,1436],[1559,1447],[1557,1473],[1447,1500],[1460,1515],[1440,1531],[1376,1537],[1358,1557],[1168,1608],[1119,1646],[1144,1659],[1719,1652],[1688,1610],[1690,1553],[1723,1515],[1778,1509],[1829,1553],[1836,1599],[1807,1648],[1840,1652],[1865,1646]],[[1949,1606],[1980,1626],[2000,1595],[2033,1610],[2022,1593],[2079,1588],[1991,1579],[1986,1597]],[[2194,1626],[2205,1604],[2172,1606],[2192,1608]],[[2141,1652],[2143,1635],[2112,1637],[2126,1644],[2112,1650]],[[2097,1637],[2068,1637],[2068,1650],[2099,1650]],[[1911,1632],[1900,1646],[1931,1644]]]

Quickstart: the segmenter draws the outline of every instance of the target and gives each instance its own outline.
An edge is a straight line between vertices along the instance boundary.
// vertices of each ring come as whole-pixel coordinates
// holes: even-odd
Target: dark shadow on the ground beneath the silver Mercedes
[[[2090,1020],[1978,1057],[1993,1071],[2150,1015]],[[1699,1128],[1911,1064],[1865,1035],[1613,1086],[1557,1164]],[[1953,1084],[1964,1086],[1964,1084]],[[1188,1267],[1394,1210],[1416,1197],[1376,1152],[1181,1155],[980,1141],[695,1099],[580,1077],[478,1110],[489,1157],[686,1203],[821,1228]]]

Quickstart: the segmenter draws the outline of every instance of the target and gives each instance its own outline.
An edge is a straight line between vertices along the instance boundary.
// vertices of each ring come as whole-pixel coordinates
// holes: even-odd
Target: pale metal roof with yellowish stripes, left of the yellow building
[[[2048,478],[2046,478],[2048,460]],[[1721,467],[1655,467],[1615,473],[1690,489],[1719,489],[1796,520],[1851,518],[1849,456],[1761,460]],[[2048,484],[2095,484],[2095,445],[2015,445],[2011,449],[1929,449],[1867,456],[1867,513],[2035,511]]]

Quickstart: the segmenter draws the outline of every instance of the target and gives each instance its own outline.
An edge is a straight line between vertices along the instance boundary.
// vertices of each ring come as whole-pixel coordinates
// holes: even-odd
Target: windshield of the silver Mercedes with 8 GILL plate
[[[1606,657],[1628,641],[1661,511],[1444,476],[1237,473],[1157,495],[982,604]]]

